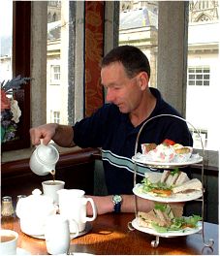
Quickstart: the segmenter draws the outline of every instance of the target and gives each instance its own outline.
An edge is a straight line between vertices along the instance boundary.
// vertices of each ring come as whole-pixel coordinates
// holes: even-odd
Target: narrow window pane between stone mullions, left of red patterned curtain
[[[47,122],[62,124],[68,124],[68,3],[47,2]]]

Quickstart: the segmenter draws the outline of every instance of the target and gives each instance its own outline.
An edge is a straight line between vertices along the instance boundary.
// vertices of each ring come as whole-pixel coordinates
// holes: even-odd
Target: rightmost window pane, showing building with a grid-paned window
[[[186,119],[201,131],[205,149],[218,149],[220,129],[210,114],[220,108],[219,95],[219,4],[190,1],[188,28],[188,85],[195,75],[197,86],[187,87]],[[204,104],[205,103],[205,104]],[[198,137],[198,136],[197,136]],[[194,133],[194,139],[196,138]],[[201,148],[200,140],[194,146]]]

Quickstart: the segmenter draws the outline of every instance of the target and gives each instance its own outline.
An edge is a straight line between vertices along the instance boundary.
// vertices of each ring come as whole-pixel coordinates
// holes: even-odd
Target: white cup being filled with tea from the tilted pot
[[[46,180],[42,182],[44,195],[50,197],[53,204],[59,205],[59,197],[57,191],[63,189],[65,182],[62,180]]]

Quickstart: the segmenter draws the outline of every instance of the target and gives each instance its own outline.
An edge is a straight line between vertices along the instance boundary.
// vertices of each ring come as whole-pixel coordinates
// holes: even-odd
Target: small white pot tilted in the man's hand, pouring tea
[[[55,171],[59,159],[59,152],[52,144],[39,144],[30,158],[30,169],[38,176],[47,176]]]

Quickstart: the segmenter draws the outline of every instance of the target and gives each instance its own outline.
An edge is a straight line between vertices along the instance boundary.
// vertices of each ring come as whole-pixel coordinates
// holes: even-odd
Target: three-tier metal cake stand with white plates
[[[187,162],[182,162],[182,163],[161,163],[161,162],[148,162],[148,161],[142,161],[139,157],[138,157],[138,146],[139,146],[139,140],[140,140],[140,135],[141,135],[141,131],[144,128],[144,126],[151,121],[152,119],[155,118],[163,118],[164,116],[169,116],[171,118],[178,118],[184,122],[186,122],[186,124],[192,126],[192,128],[196,131],[196,133],[198,134],[199,138],[200,138],[200,142],[202,144],[202,153],[203,156],[198,155],[198,157],[194,158],[194,159],[190,159]],[[168,138],[169,139],[169,138]],[[208,247],[211,250],[213,250],[213,244],[214,244],[214,240],[213,239],[209,239],[207,242],[205,242],[205,238],[204,238],[204,144],[202,141],[202,138],[200,136],[200,133],[198,132],[198,130],[188,121],[186,121],[184,118],[177,116],[177,115],[173,115],[173,114],[159,114],[156,116],[153,116],[149,119],[147,119],[141,126],[141,129],[139,131],[139,134],[137,136],[137,140],[136,140],[136,145],[135,145],[135,155],[133,156],[133,161],[134,161],[134,195],[135,195],[135,215],[136,218],[128,223],[128,228],[130,230],[139,230],[141,232],[144,232],[146,234],[150,234],[155,236],[155,240],[151,241],[151,246],[152,247],[157,247],[159,245],[159,240],[160,237],[163,238],[174,238],[174,237],[179,237],[179,236],[188,236],[188,235],[192,235],[198,232],[202,233],[202,238],[203,238],[203,243],[204,243],[204,247]],[[147,197],[145,195],[142,195],[140,192],[138,192],[137,186],[140,184],[137,184],[137,173],[138,173],[138,165],[146,167],[148,169],[153,169],[155,171],[155,169],[159,169],[160,170],[164,170],[164,169],[168,169],[168,170],[173,170],[175,168],[183,168],[183,167],[187,167],[190,166],[192,164],[196,164],[199,165],[201,167],[202,170],[202,174],[201,174],[201,181],[202,181],[202,185],[203,185],[203,189],[202,191],[197,191],[191,195],[186,196],[185,198],[181,198],[180,202],[187,202],[187,201],[193,201],[193,200],[200,200],[202,201],[202,221],[200,222],[200,225],[198,227],[198,229],[189,229],[188,231],[184,232],[184,233],[176,233],[176,232],[170,232],[170,233],[157,233],[154,232],[153,230],[147,229],[147,228],[141,228],[138,225],[138,204],[137,204],[137,199],[138,197],[141,198],[145,198],[147,200],[152,200],[152,201],[156,201],[156,202],[163,202],[163,203],[174,203],[174,202],[179,202],[179,199],[162,199],[160,200],[160,198],[151,198],[151,197]]]

